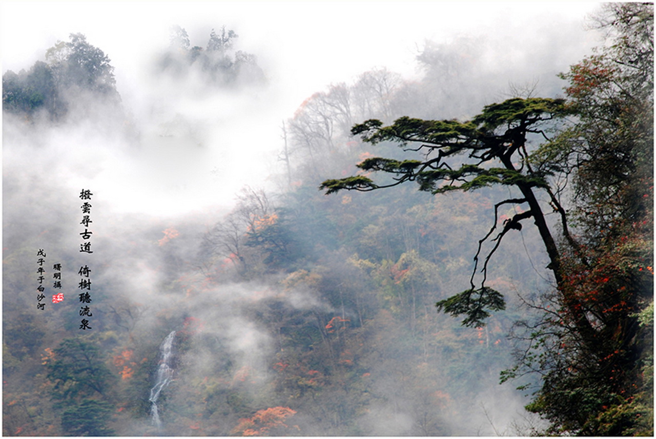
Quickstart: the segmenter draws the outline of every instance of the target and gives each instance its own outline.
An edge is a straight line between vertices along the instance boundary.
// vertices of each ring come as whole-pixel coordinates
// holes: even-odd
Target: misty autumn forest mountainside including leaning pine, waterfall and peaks
[[[39,181],[94,173],[71,133],[144,151],[108,54],[72,33],[5,72],[3,435],[652,436],[653,5],[594,26],[496,102],[466,39],[327,85],[262,139],[270,187],[174,220]],[[261,90],[238,43],[174,26],[152,74]]]

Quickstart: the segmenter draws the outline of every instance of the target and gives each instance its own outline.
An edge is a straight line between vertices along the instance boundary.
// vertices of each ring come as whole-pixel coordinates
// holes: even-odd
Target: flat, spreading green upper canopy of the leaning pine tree
[[[510,157],[524,147],[527,133],[538,132],[544,121],[563,117],[568,113],[560,99],[514,98],[486,106],[483,113],[470,122],[424,121],[400,117],[393,125],[382,127],[382,123],[369,120],[355,125],[353,134],[361,134],[365,142],[377,144],[382,141],[421,142],[417,149],[437,152],[438,156],[424,161],[416,159],[395,160],[373,157],[359,163],[363,171],[382,171],[394,175],[391,184],[377,185],[368,177],[354,176],[338,180],[326,180],[319,187],[326,194],[339,190],[374,190],[396,186],[405,181],[417,180],[420,190],[434,194],[450,190],[472,190],[492,184],[506,184],[530,189],[546,188],[544,175],[535,173],[530,167],[520,170],[512,164]],[[494,133],[500,125],[508,125],[501,135]],[[468,152],[475,163],[463,164],[452,169],[446,157]],[[524,161],[525,157],[518,157]],[[501,162],[503,167],[483,167],[488,161]]]

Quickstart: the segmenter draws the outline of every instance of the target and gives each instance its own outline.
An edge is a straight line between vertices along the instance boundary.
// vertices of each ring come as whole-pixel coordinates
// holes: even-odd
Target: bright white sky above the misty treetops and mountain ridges
[[[350,81],[376,66],[414,73],[417,47],[425,39],[441,42],[458,33],[508,35],[522,22],[528,28],[550,22],[583,24],[598,3],[0,1],[0,7],[3,72],[43,60],[45,49],[58,39],[81,32],[110,56],[120,79],[123,69],[167,43],[171,25],[186,28],[192,45],[203,46],[209,30],[225,24],[239,34],[239,47],[255,53],[260,64],[275,63],[281,69],[276,79],[294,85],[288,93],[298,105],[325,85]]]

